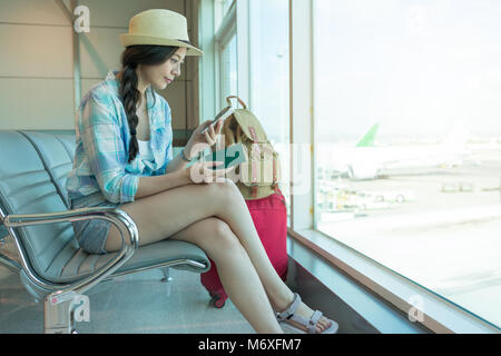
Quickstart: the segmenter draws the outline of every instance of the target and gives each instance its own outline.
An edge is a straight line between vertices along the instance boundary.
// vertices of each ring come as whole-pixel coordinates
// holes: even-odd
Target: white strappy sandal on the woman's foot
[[[312,316],[310,317],[310,320],[307,320],[304,317],[302,317],[301,315],[294,314],[296,312],[297,307],[299,306],[299,304],[301,304],[301,297],[297,293],[294,293],[294,300],[291,304],[291,306],[282,313],[275,312],[275,316],[278,319],[278,323],[281,324],[281,326],[291,328],[293,332],[298,333],[298,334],[317,334],[317,333],[315,333],[315,329],[316,329],[316,324],[318,323],[318,320],[321,319],[321,317],[323,315],[322,312],[315,310],[312,314]],[[291,323],[287,323],[287,320],[293,320],[301,325],[304,325],[305,327],[307,327],[307,333],[304,329],[301,329],[301,328],[292,325]],[[331,326],[318,334],[335,334],[335,333],[337,333],[337,329],[340,328],[337,323],[334,320],[331,320],[328,318],[327,318],[327,320],[331,322]]]

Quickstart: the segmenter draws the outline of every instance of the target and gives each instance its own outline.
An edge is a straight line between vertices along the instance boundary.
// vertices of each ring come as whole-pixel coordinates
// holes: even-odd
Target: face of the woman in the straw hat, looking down
[[[180,66],[184,63],[187,48],[179,48],[164,63],[157,66],[144,66],[143,78],[155,89],[163,90],[180,76]]]

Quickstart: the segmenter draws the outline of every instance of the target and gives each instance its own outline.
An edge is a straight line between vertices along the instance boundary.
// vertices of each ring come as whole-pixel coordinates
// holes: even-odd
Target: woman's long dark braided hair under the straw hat
[[[121,53],[122,75],[120,78],[119,96],[127,113],[127,122],[129,123],[129,130],[132,137],[129,145],[128,162],[132,161],[139,151],[136,137],[139,118],[136,113],[136,105],[139,101],[140,92],[137,89],[138,78],[136,68],[138,65],[154,66],[164,63],[178,48],[171,46],[134,44],[127,47]],[[154,93],[151,86],[150,90]],[[155,95],[153,97],[155,98]]]

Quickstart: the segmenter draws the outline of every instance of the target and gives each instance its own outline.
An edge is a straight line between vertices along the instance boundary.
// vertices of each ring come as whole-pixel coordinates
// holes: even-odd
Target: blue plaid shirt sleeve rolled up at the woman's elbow
[[[126,171],[128,155],[117,116],[94,93],[82,110],[81,139],[90,169],[111,202],[134,201],[139,176]]]

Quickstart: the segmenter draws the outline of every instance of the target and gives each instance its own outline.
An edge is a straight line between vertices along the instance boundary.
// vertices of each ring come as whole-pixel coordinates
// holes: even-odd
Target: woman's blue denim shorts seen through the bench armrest
[[[82,197],[71,201],[71,208],[78,209],[84,207],[119,207],[119,204],[104,201],[91,204],[92,197]],[[108,238],[108,231],[111,222],[102,219],[91,219],[72,221],[75,237],[84,250],[89,254],[106,254],[105,244]]]

